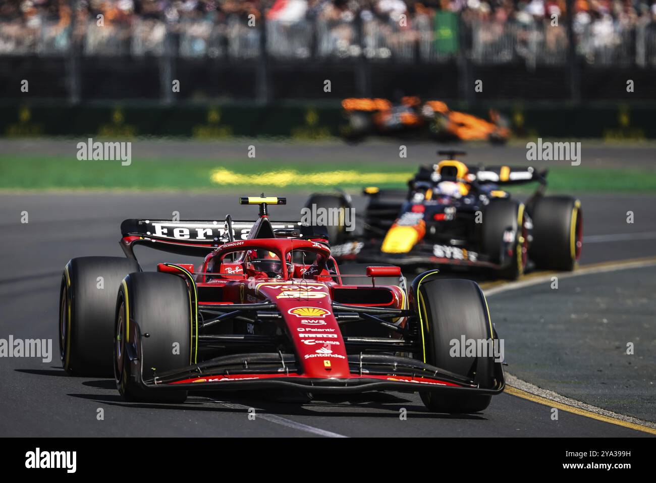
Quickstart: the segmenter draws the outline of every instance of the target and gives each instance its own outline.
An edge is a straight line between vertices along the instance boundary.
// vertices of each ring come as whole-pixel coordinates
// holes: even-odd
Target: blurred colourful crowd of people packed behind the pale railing
[[[177,35],[183,54],[220,53],[230,49],[226,38],[235,39],[233,48],[255,51],[258,34],[248,29],[264,16],[282,26],[272,31],[281,48],[298,56],[307,54],[310,31],[293,25],[320,25],[319,47],[333,51],[361,47],[354,24],[374,26],[362,34],[369,35],[368,48],[392,54],[400,45],[432,42],[435,19],[448,13],[472,26],[475,41],[497,46],[509,33],[530,41],[526,28],[554,21],[564,27],[567,6],[565,0],[0,0],[0,53],[63,51],[71,39],[89,52],[123,45],[157,53],[167,32]],[[590,51],[628,41],[636,28],[656,30],[656,0],[573,0],[572,13],[581,48]],[[90,30],[93,24],[108,28]],[[562,49],[564,29],[543,31],[547,46]]]

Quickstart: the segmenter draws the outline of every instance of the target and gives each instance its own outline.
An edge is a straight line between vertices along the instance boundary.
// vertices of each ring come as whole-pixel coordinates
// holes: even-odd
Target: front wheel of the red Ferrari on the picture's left
[[[194,362],[197,327],[190,304],[178,276],[142,272],[125,278],[115,299],[114,379],[126,400],[184,402],[186,390],[144,389],[140,381]]]

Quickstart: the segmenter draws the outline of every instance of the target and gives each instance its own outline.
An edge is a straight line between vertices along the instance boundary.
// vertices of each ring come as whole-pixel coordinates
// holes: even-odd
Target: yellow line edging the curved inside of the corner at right
[[[624,268],[626,265],[638,264],[638,263],[656,263],[656,257],[654,256],[640,257],[640,258],[626,259],[621,261],[591,263],[581,266],[581,269],[575,272],[552,272],[546,270],[543,272],[533,272],[531,274],[522,276],[518,280],[518,282],[529,281],[534,278],[543,278],[553,274],[560,274],[561,276],[563,274],[567,274],[568,277],[577,276],[577,275],[583,276],[586,274],[594,273],[594,270],[599,268],[617,268],[619,270],[621,268]],[[506,282],[504,280],[495,280],[495,282],[484,282],[483,284],[480,284],[480,287],[484,290],[484,289],[499,287],[501,285],[506,285],[508,283],[509,282]],[[525,287],[525,285],[518,285],[518,287],[512,287],[509,288],[508,290],[520,289],[523,287]],[[569,404],[544,398],[543,396],[538,396],[537,394],[533,394],[531,392],[527,392],[525,390],[518,389],[510,385],[506,385],[506,389],[504,390],[504,392],[507,392],[508,394],[512,394],[513,396],[517,396],[519,398],[523,398],[532,402],[537,402],[538,404],[544,404],[544,406],[548,406],[550,408],[557,408],[559,410],[568,413],[573,413],[584,417],[590,417],[591,419],[596,419],[597,421],[603,421],[604,423],[609,423],[611,425],[622,426],[625,428],[633,429],[635,431],[647,432],[649,434],[656,434],[656,429],[653,429],[651,427],[640,425],[637,423],[631,423],[630,421],[623,421],[622,419],[617,419],[615,417],[610,417],[603,414],[595,413],[593,411],[584,410],[581,408],[577,408],[576,406],[570,406]]]

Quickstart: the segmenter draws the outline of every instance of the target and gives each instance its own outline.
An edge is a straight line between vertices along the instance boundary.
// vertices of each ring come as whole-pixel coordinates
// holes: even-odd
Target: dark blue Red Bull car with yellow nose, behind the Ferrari
[[[508,279],[521,276],[529,262],[575,268],[583,245],[581,202],[545,196],[546,171],[471,166],[455,159],[462,152],[439,154],[447,159],[420,167],[407,190],[365,188],[369,201],[359,230],[327,227],[338,261],[484,268]],[[529,182],[539,188],[525,203],[504,190]],[[351,201],[344,194],[315,194],[306,207],[341,213]]]

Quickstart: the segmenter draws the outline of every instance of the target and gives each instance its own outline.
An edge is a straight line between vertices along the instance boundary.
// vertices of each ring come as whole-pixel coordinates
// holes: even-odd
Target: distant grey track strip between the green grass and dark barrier
[[[0,139],[0,152],[3,154],[50,154],[52,156],[75,156],[80,139]],[[82,139],[86,141],[86,139]],[[545,139],[546,141],[546,139]],[[579,140],[577,140],[579,141]],[[656,143],[626,142],[610,144],[597,140],[580,140],[581,166],[586,167],[624,167],[653,168]],[[247,154],[249,146],[255,146],[260,161],[309,161],[329,162],[335,159],[358,159],[362,162],[398,164],[399,148],[407,147],[407,158],[403,159],[415,169],[418,164],[428,164],[438,159],[437,150],[464,150],[464,161],[483,165],[538,165],[539,161],[526,160],[526,142],[514,140],[506,146],[490,146],[486,142],[445,143],[403,140],[394,138],[372,138],[362,144],[346,144],[340,140],[325,141],[283,141],[267,138],[243,140],[186,141],[150,138],[134,140],[133,161],[138,159],[156,161],[162,158],[174,159],[241,159]],[[569,161],[552,161],[550,166],[569,166]],[[543,167],[543,166],[541,166]]]

